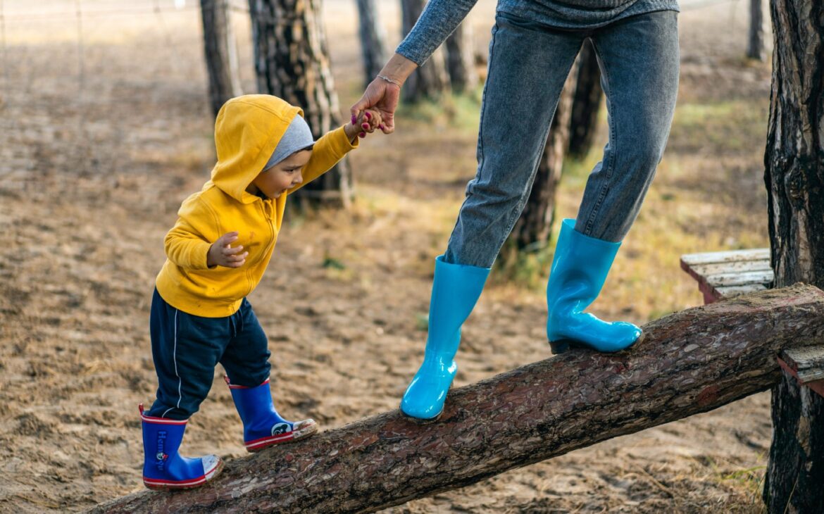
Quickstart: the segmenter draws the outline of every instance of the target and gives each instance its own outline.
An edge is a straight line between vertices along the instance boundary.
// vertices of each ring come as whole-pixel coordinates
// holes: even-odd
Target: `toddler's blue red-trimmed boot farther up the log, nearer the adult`
[[[231,384],[228,376],[224,380],[232,391],[237,414],[241,415],[246,451],[261,451],[283,442],[299,441],[317,432],[314,419],[291,422],[280,417],[274,409],[268,378],[255,387]]]

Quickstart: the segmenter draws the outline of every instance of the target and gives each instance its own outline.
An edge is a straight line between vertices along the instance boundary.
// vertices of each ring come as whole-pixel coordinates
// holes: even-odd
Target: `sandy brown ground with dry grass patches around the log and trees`
[[[395,43],[397,10],[381,3]],[[82,2],[136,12],[87,13],[78,41],[75,2],[3,2],[0,512],[77,511],[143,487],[137,404],[156,387],[153,278],[176,208],[213,164],[198,13],[191,1],[179,11],[150,4]],[[326,2],[344,108],[360,80],[351,4]],[[493,6],[472,14],[478,49]],[[770,71],[741,57],[746,29],[742,2],[682,13],[670,147],[598,315],[644,323],[699,305],[678,255],[768,244]],[[433,258],[474,173],[472,131],[400,126],[351,157],[350,212],[284,225],[250,296],[269,334],[279,409],[323,428],[396,408],[423,353]],[[564,179],[560,216],[574,216],[582,184]],[[548,357],[544,323],[540,288],[494,280],[466,325],[456,385]],[[191,419],[187,455],[244,456],[221,376]],[[769,404],[762,393],[387,512],[761,512]]]

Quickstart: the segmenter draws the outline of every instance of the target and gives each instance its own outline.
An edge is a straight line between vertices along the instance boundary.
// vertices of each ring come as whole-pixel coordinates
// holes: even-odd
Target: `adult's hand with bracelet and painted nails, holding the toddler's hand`
[[[360,100],[349,109],[352,119],[358,119],[363,110],[374,109],[383,119],[383,133],[395,132],[395,110],[400,99],[400,87],[415,68],[418,68],[418,65],[414,61],[400,54],[393,55],[378,73],[379,77],[369,83]]]

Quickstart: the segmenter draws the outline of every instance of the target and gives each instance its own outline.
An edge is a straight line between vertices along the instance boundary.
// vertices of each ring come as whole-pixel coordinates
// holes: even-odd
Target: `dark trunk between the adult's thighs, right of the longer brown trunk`
[[[591,40],[586,40],[578,55],[578,83],[569,121],[569,154],[573,157],[584,157],[592,148],[602,96],[601,69],[598,68],[595,47]]]

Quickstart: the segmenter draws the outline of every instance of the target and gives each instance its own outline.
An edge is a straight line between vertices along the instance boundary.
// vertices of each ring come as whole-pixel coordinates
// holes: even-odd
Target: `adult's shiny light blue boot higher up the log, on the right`
[[[573,219],[562,223],[546,285],[546,335],[552,353],[569,347],[618,352],[641,336],[641,329],[631,323],[608,323],[583,312],[601,293],[619,247],[620,243],[584,236],[575,230]]]

